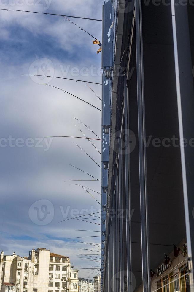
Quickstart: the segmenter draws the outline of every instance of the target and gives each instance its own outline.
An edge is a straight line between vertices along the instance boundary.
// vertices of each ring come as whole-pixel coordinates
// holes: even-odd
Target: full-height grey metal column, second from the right
[[[137,101],[138,101],[138,130],[139,130],[139,183],[141,207],[141,254],[143,292],[150,292],[150,253],[147,206],[147,169],[144,108],[144,69],[143,69],[143,39],[141,0],[135,2],[136,18],[136,59],[137,59]]]

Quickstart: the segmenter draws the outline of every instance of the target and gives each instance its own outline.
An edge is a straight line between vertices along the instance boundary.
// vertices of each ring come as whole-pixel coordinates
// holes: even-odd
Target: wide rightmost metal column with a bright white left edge
[[[182,181],[185,205],[185,224],[187,234],[187,250],[190,271],[190,291],[194,291],[194,157],[193,147],[189,141],[194,134],[194,92],[192,76],[192,60],[190,50],[190,34],[187,5],[171,0],[172,27],[174,40],[174,59],[176,73],[176,94],[179,116],[180,141],[187,139],[187,147],[181,148]]]

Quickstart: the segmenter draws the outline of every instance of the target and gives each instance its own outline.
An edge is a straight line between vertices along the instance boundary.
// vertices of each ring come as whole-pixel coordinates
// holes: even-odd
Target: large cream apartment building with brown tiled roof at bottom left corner
[[[28,257],[0,255],[0,292],[70,292],[70,276],[69,257],[46,248],[32,249]]]

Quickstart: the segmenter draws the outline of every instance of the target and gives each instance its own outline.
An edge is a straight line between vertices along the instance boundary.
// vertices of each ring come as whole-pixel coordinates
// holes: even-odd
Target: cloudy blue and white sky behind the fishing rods
[[[1,0],[2,9],[31,10],[101,19],[103,1],[95,0]],[[29,250],[45,247],[71,258],[77,268],[99,266],[77,254],[95,254],[98,258],[100,219],[88,223],[67,218],[100,211],[99,181],[71,167],[72,164],[97,179],[101,142],[86,139],[46,138],[80,136],[97,138],[80,122],[101,136],[101,112],[50,85],[66,90],[101,108],[101,101],[86,85],[56,78],[38,78],[23,74],[53,75],[101,82],[101,54],[89,35],[63,17],[25,12],[0,11],[0,251],[26,256]],[[65,21],[64,21],[65,20]],[[73,21],[101,40],[101,22]],[[88,85],[101,97],[101,86]],[[81,131],[83,133],[81,133]],[[76,144],[77,145],[76,145]],[[96,213],[100,217],[100,213]],[[97,220],[93,220],[97,219]],[[63,221],[63,222],[60,222]],[[91,246],[73,240],[95,243]],[[77,248],[92,249],[92,251]],[[92,267],[91,267],[92,268]],[[79,276],[93,277],[98,271],[80,269]]]

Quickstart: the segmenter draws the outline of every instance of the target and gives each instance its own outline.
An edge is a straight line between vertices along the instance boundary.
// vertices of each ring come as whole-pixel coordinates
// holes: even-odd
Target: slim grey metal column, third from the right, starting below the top
[[[130,177],[129,177],[129,103],[126,77],[124,77],[124,102],[125,102],[125,200],[126,200],[126,246],[127,246],[127,292],[131,292],[131,198],[130,198]],[[128,210],[128,213],[127,213]]]

